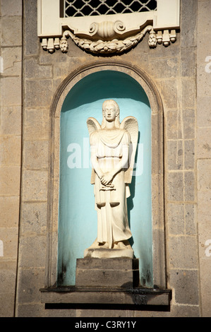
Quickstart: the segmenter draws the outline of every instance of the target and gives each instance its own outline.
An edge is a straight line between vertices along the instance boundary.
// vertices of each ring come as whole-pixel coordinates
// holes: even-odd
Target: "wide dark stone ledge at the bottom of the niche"
[[[110,287],[47,287],[40,289],[45,304],[128,304],[169,306],[171,290]]]

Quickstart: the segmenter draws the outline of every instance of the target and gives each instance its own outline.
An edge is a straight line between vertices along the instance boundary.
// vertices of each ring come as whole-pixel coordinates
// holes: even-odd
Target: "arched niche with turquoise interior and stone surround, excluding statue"
[[[76,259],[97,236],[86,119],[102,121],[102,102],[119,103],[121,120],[138,119],[136,175],[128,214],[140,285],[164,288],[162,102],[155,85],[129,64],[90,64],[61,84],[51,109],[46,285],[75,283]]]

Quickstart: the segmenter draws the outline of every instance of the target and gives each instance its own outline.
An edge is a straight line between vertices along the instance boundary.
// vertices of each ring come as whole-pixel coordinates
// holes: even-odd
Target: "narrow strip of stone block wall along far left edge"
[[[0,1],[0,316],[16,298],[22,114],[22,1]]]

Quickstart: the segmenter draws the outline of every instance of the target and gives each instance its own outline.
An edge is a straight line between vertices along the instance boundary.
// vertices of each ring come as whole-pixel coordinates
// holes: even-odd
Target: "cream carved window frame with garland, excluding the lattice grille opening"
[[[136,37],[133,46],[150,32],[149,46],[157,44],[168,46],[176,40],[176,30],[179,30],[180,0],[157,0],[156,11],[121,13],[100,16],[61,17],[64,11],[60,0],[38,0],[37,35],[42,40],[42,48],[53,53],[56,49],[68,51],[67,37],[87,52],[114,53],[114,45],[107,49],[107,43],[114,40],[131,44],[128,38]],[[50,15],[49,15],[50,12]],[[88,47],[88,42],[100,41],[104,47]],[[65,47],[64,47],[65,44]],[[124,52],[128,47],[119,47],[115,52]]]

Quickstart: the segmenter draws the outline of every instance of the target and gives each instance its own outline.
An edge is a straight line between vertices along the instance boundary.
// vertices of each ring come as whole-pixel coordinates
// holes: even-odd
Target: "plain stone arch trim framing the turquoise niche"
[[[56,283],[58,203],[59,203],[59,132],[60,114],[68,92],[85,76],[98,71],[120,71],[137,81],[145,90],[152,109],[152,241],[153,281],[166,289],[165,235],[164,235],[164,143],[163,105],[155,83],[142,69],[123,61],[99,61],[81,66],[70,73],[57,89],[50,107],[49,184],[47,214],[47,263],[45,287]]]

